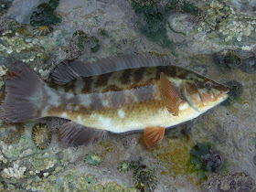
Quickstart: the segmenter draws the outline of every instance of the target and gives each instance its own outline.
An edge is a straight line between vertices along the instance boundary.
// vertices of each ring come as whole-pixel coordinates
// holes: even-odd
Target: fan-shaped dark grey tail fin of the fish
[[[33,69],[17,61],[5,76],[0,118],[18,123],[40,117],[44,85]]]

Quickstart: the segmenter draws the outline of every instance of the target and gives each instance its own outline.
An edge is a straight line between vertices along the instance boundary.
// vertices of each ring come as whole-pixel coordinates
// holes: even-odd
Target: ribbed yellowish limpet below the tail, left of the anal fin
[[[32,138],[38,149],[45,149],[51,142],[51,132],[46,124],[36,124],[32,129]]]

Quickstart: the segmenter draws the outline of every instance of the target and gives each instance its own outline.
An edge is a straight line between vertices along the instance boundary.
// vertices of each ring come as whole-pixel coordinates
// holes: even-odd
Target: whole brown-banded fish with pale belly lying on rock
[[[5,74],[1,119],[70,120],[59,128],[65,146],[100,141],[105,133],[143,131],[153,149],[165,129],[197,118],[228,98],[229,88],[171,65],[166,56],[126,54],[94,63],[63,61],[48,82],[16,61]]]

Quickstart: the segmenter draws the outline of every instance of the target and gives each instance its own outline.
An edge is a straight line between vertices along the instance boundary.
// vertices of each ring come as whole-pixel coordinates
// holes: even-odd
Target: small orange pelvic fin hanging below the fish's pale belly
[[[144,128],[144,143],[147,148],[153,149],[157,144],[160,144],[164,137],[164,127],[146,127]]]

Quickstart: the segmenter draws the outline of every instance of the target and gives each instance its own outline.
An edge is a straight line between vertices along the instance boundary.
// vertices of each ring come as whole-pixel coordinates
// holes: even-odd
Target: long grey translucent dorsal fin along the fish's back
[[[58,84],[63,85],[78,77],[101,75],[122,69],[134,69],[142,67],[168,66],[170,60],[167,56],[157,57],[155,54],[127,54],[120,57],[101,59],[93,63],[80,61],[61,62],[51,74],[51,78]]]

